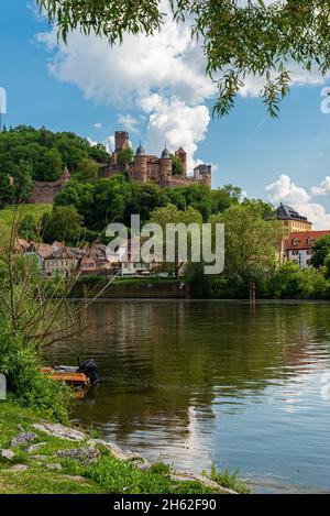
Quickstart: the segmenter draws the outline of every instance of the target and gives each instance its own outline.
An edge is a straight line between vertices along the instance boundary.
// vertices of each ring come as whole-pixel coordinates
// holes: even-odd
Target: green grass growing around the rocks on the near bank
[[[141,471],[133,461],[116,459],[109,450],[100,446],[100,458],[84,464],[69,458],[57,458],[56,451],[77,449],[87,446],[86,441],[72,442],[37,432],[32,424],[40,419],[35,410],[22,408],[14,400],[0,402],[0,449],[9,449],[11,439],[20,431],[33,431],[37,439],[33,443],[44,443],[34,453],[44,455],[40,463],[31,458],[24,447],[15,448],[12,461],[0,460],[0,494],[212,494],[198,481],[179,482],[170,476],[169,466],[155,463],[148,471]],[[32,453],[33,454],[33,453]],[[25,464],[26,471],[13,471],[14,464]],[[48,470],[47,464],[58,463],[62,470]],[[217,476],[218,475],[218,476]],[[228,472],[221,476],[213,468],[210,479],[226,481],[231,488],[246,492],[244,484]],[[224,485],[224,484],[222,484]]]

